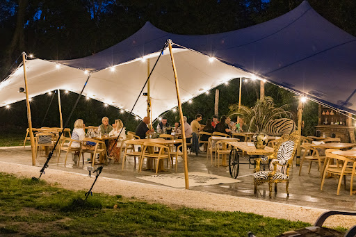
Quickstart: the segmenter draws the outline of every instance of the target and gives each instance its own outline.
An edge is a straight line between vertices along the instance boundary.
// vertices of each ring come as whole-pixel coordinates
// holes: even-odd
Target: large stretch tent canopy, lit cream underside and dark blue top
[[[356,114],[356,38],[318,15],[303,1],[268,22],[213,35],[176,35],[147,22],[126,40],[95,55],[73,60],[27,60],[30,97],[49,90],[83,95],[130,111],[165,42],[175,44],[182,102],[236,77],[259,76],[283,88],[342,111]],[[215,58],[211,60],[210,57]],[[56,65],[60,65],[59,68]],[[19,68],[0,83],[0,106],[25,99]],[[146,90],[144,90],[145,92]],[[177,106],[168,50],[150,81],[152,118]],[[133,113],[146,115],[140,95]]]

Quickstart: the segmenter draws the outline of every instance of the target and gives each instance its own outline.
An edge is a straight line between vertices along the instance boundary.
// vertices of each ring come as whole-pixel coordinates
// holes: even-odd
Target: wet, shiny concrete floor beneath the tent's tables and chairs
[[[86,154],[86,158],[90,155]],[[65,170],[68,172],[77,172],[82,174],[88,174],[86,167],[90,164],[82,163],[79,167],[74,165],[72,156],[68,156],[67,165],[64,165],[65,153],[60,154],[59,163],[57,164],[57,157],[53,156],[49,162],[49,169]],[[30,147],[0,147],[0,161],[19,163],[24,165],[31,165],[31,149]],[[40,168],[46,161],[45,156],[39,156],[36,160],[36,166],[40,174]],[[246,162],[246,161],[243,161]],[[135,181],[140,183],[152,183],[143,179],[137,179],[137,177],[152,175],[152,171],[143,171],[141,173],[133,169],[133,158],[129,158],[125,161],[124,170],[122,171],[122,164],[109,163],[104,165],[102,171],[103,177],[109,177],[113,179],[122,179],[127,181]],[[97,165],[95,165],[97,166]],[[206,153],[201,153],[199,156],[195,154],[188,155],[188,167],[189,172],[207,172],[209,174],[216,174],[223,177],[229,177],[229,167],[216,167],[211,165],[210,158],[207,162]],[[337,195],[337,182],[339,179],[330,178],[325,180],[323,191],[320,190],[321,178],[319,177],[318,168],[313,163],[312,170],[308,174],[309,164],[302,167],[302,173],[299,176],[299,167],[296,167],[294,161],[293,167],[291,167],[291,181],[289,184],[289,197],[286,195],[286,188],[284,183],[278,184],[278,192],[273,191],[273,197],[268,197],[268,184],[265,183],[259,186],[259,190],[255,195],[253,192],[253,165],[241,164],[238,173],[238,178],[243,182],[219,184],[211,186],[196,186],[191,190],[200,190],[207,193],[219,193],[223,195],[233,195],[238,197],[246,197],[249,199],[262,199],[268,202],[280,202],[285,204],[294,204],[298,206],[308,206],[321,209],[333,209],[342,211],[355,211],[356,209],[356,195],[350,196],[350,177],[346,179],[346,189],[341,184],[340,195]],[[172,171],[173,172],[173,171]],[[181,158],[178,160],[177,172],[184,172],[183,161]],[[160,172],[167,174],[168,172]],[[45,175],[45,174],[44,174]],[[160,185],[158,183],[152,183]],[[356,187],[354,185],[354,190]]]

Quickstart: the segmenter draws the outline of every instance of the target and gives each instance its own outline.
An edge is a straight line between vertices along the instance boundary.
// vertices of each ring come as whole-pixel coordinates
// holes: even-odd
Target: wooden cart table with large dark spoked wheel
[[[246,152],[246,154],[250,156],[250,159],[252,156],[269,156],[275,151],[272,147],[267,146],[264,147],[264,149],[257,149],[254,147],[253,142],[227,142],[227,144],[234,147],[229,155],[229,172],[233,179],[236,179],[238,176],[238,170],[240,168],[240,155],[238,154],[238,150]],[[249,164],[251,163],[250,159]]]

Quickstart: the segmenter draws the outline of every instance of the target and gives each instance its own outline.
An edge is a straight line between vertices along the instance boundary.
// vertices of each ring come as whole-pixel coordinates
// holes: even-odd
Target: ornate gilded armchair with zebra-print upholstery
[[[266,158],[256,159],[256,168],[254,169],[254,193],[257,193],[257,186],[268,183],[270,198],[272,197],[272,183],[275,183],[275,192],[277,192],[277,183],[286,183],[286,193],[289,195],[289,169],[296,154],[297,145],[300,137],[298,132],[294,131],[289,135],[284,135],[275,144],[275,151]],[[260,171],[261,161],[270,160],[269,171]]]

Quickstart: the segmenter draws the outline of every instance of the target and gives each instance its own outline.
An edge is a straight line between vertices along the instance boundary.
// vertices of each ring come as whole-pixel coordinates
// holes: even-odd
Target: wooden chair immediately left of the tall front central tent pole
[[[154,152],[155,149],[159,149],[159,152]],[[166,159],[167,165],[170,169],[170,147],[165,145],[159,145],[154,142],[145,142],[143,143],[143,152],[140,158],[140,168],[138,172],[142,171],[143,159],[152,158],[156,160],[156,174],[159,172],[159,161]]]

